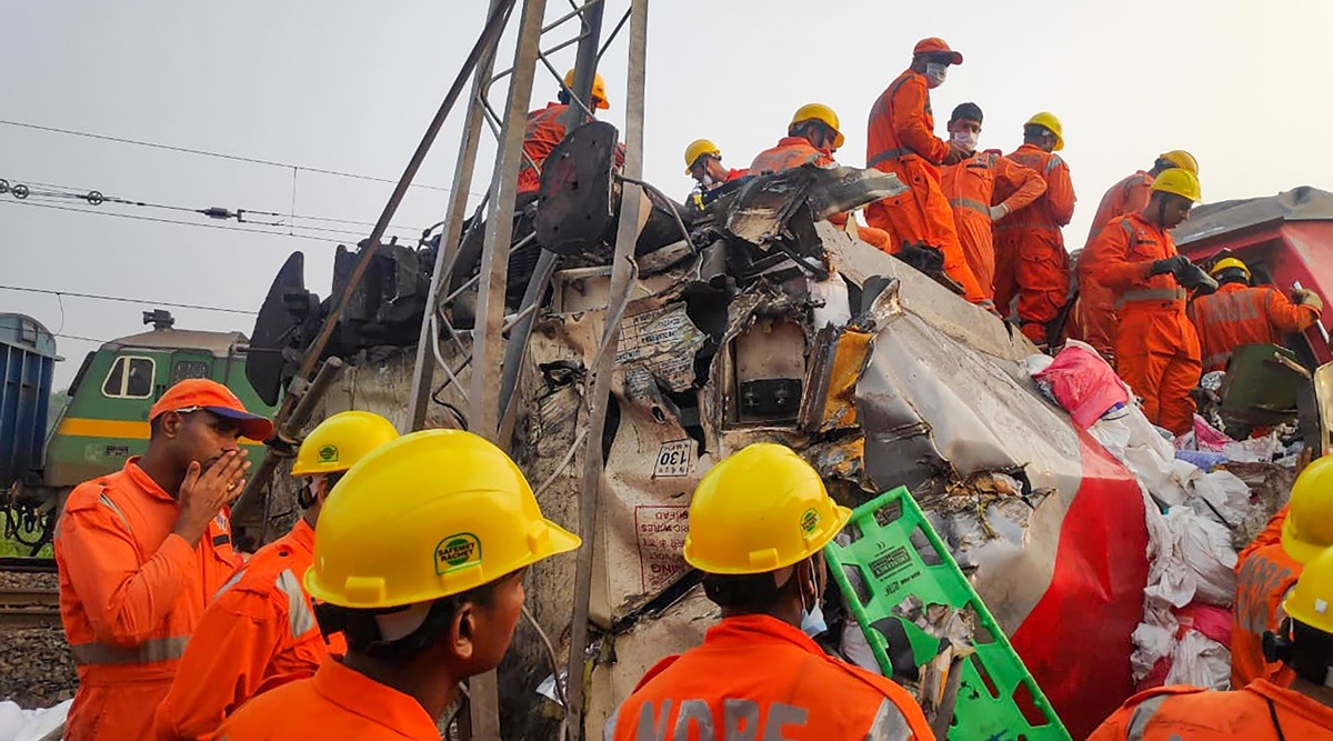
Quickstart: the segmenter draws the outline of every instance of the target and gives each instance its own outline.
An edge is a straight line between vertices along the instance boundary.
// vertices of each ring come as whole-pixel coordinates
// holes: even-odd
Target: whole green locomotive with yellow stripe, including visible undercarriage
[[[7,473],[4,536],[33,554],[49,542],[69,490],[119,470],[148,446],[148,409],[183,378],[213,378],[260,414],[272,414],[245,380],[248,340],[240,332],[175,329],[168,312],[144,312],[149,332],[105,343],[84,357],[69,385],[69,404],[45,438],[40,465]],[[49,389],[47,390],[49,393]],[[259,464],[263,441],[243,440]]]

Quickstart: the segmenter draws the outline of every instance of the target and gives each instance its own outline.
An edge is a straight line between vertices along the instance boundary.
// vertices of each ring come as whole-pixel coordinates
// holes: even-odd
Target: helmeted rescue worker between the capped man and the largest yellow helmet
[[[347,652],[340,633],[328,642],[320,634],[301,577],[329,490],[352,464],[397,436],[379,414],[340,412],[305,437],[292,465],[292,476],[309,477],[300,494],[305,514],[255,553],[204,610],[157,708],[159,738],[212,738],[251,697],[315,674],[327,653]]]

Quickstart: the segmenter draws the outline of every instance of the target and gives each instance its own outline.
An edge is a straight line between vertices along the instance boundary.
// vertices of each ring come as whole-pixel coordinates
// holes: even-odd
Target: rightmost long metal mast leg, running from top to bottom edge
[[[644,85],[648,51],[648,0],[632,0],[629,21],[629,75],[625,89],[625,167],[627,176],[643,177],[644,168]],[[629,184],[623,191],[620,204],[620,225],[616,232],[616,257],[612,261],[609,296],[628,296],[632,289],[632,265],[635,241],[639,236],[640,188]],[[608,309],[611,307],[608,305]],[[608,312],[609,315],[609,312]],[[615,348],[620,337],[620,323],[607,317],[603,329],[603,347]],[[600,498],[603,460],[601,436],[607,422],[607,404],[611,394],[612,373],[616,367],[616,353],[605,349],[597,357],[593,368],[588,420],[588,437],[584,446],[583,490],[579,497],[579,533],[584,544],[579,550],[575,572],[573,621],[569,630],[569,706],[565,708],[569,726],[576,736],[583,734],[584,713],[584,661],[588,648],[588,610],[592,596],[592,561],[597,538],[597,502]]]

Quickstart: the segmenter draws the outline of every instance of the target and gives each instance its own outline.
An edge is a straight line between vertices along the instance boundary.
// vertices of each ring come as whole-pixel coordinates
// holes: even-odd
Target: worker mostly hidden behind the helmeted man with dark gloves
[[[1158,155],[1150,169],[1138,171],[1112,185],[1101,197],[1101,203],[1097,204],[1097,215],[1093,216],[1092,229],[1088,231],[1088,241],[1074,268],[1078,279],[1078,297],[1069,315],[1069,336],[1092,345],[1112,365],[1116,361],[1116,300],[1110,289],[1093,277],[1092,260],[1088,260],[1088,256],[1092,255],[1089,248],[1112,219],[1142,211],[1148,205],[1153,180],[1177,167],[1198,175],[1198,161],[1194,160],[1194,156],[1184,149],[1173,149]]]

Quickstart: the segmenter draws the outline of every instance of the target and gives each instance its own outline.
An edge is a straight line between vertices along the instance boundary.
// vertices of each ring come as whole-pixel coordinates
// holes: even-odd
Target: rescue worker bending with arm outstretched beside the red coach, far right
[[[1281,345],[1284,332],[1304,332],[1324,311],[1324,300],[1308,288],[1293,291],[1288,300],[1272,285],[1250,287],[1250,269],[1236,257],[1222,257],[1209,275],[1220,285],[1217,293],[1194,299],[1185,309],[1198,332],[1204,373],[1225,370],[1241,345]]]

